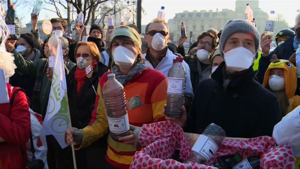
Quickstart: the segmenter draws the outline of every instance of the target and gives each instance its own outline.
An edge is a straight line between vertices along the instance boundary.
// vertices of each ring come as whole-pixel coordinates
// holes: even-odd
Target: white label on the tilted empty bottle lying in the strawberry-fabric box
[[[201,154],[207,161],[209,161],[219,149],[218,145],[214,143],[209,137],[200,134],[192,150]]]

